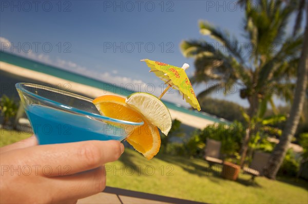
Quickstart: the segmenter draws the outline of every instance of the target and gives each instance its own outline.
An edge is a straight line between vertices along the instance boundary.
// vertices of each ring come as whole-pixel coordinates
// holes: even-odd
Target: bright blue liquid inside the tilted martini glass
[[[33,104],[26,113],[38,144],[58,144],[84,140],[122,140],[127,134],[119,126],[87,116]]]

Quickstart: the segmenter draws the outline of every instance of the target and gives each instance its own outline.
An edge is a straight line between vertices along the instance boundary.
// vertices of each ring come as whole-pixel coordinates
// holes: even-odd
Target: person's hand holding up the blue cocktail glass
[[[1,203],[75,203],[105,189],[103,166],[124,152],[119,141],[37,146],[34,136],[0,149]]]

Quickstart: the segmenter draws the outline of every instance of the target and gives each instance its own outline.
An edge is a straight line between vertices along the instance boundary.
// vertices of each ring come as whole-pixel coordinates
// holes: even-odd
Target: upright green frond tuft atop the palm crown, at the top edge
[[[284,39],[286,24],[295,6],[281,6],[283,1],[279,0],[263,0],[257,2],[256,8],[249,9],[250,1],[245,3],[246,37],[256,46],[251,59],[266,59],[273,54],[273,47],[277,49]]]

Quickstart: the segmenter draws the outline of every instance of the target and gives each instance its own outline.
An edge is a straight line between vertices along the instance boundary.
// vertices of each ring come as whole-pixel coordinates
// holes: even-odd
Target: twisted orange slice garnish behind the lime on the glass
[[[115,95],[104,95],[93,100],[93,104],[102,115],[132,122],[143,121],[144,125],[132,131],[126,138],[128,143],[147,159],[155,156],[161,145],[158,128],[136,109],[125,103],[125,98]]]

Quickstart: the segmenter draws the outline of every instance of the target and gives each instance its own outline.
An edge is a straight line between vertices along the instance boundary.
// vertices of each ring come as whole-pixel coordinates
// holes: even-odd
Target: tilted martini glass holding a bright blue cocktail
[[[92,99],[46,86],[17,83],[38,144],[84,140],[123,140],[143,121],[132,122],[100,115]]]

